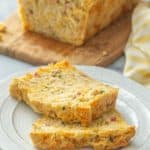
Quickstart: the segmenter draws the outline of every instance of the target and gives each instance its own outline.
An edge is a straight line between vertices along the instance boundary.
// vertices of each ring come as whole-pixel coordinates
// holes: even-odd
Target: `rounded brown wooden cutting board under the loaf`
[[[131,29],[131,13],[79,47],[40,34],[24,33],[17,13],[9,17],[5,24],[7,32],[0,42],[1,54],[35,65],[66,59],[73,64],[107,66],[123,54]]]

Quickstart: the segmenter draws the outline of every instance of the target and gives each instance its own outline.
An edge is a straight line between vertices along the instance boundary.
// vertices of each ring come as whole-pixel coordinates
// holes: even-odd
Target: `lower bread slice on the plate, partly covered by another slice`
[[[127,146],[134,135],[134,126],[128,125],[115,110],[103,114],[89,127],[43,118],[33,124],[31,131],[34,145],[41,150],[74,150],[84,147],[115,150]]]

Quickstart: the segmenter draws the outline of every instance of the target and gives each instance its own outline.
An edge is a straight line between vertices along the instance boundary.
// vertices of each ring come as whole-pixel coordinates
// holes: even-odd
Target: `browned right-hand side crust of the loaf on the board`
[[[118,17],[132,10],[139,0],[96,0],[89,11],[85,38],[107,27]]]

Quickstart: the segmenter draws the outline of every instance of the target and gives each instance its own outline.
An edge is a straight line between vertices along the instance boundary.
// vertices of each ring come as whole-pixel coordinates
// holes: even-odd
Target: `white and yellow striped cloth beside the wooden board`
[[[150,88],[150,2],[141,2],[133,12],[125,56],[124,74]]]

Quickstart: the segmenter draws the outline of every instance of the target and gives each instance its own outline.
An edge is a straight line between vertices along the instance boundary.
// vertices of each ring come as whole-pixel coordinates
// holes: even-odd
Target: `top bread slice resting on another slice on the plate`
[[[10,93],[36,112],[88,126],[115,107],[118,89],[96,81],[62,61],[14,79]]]

